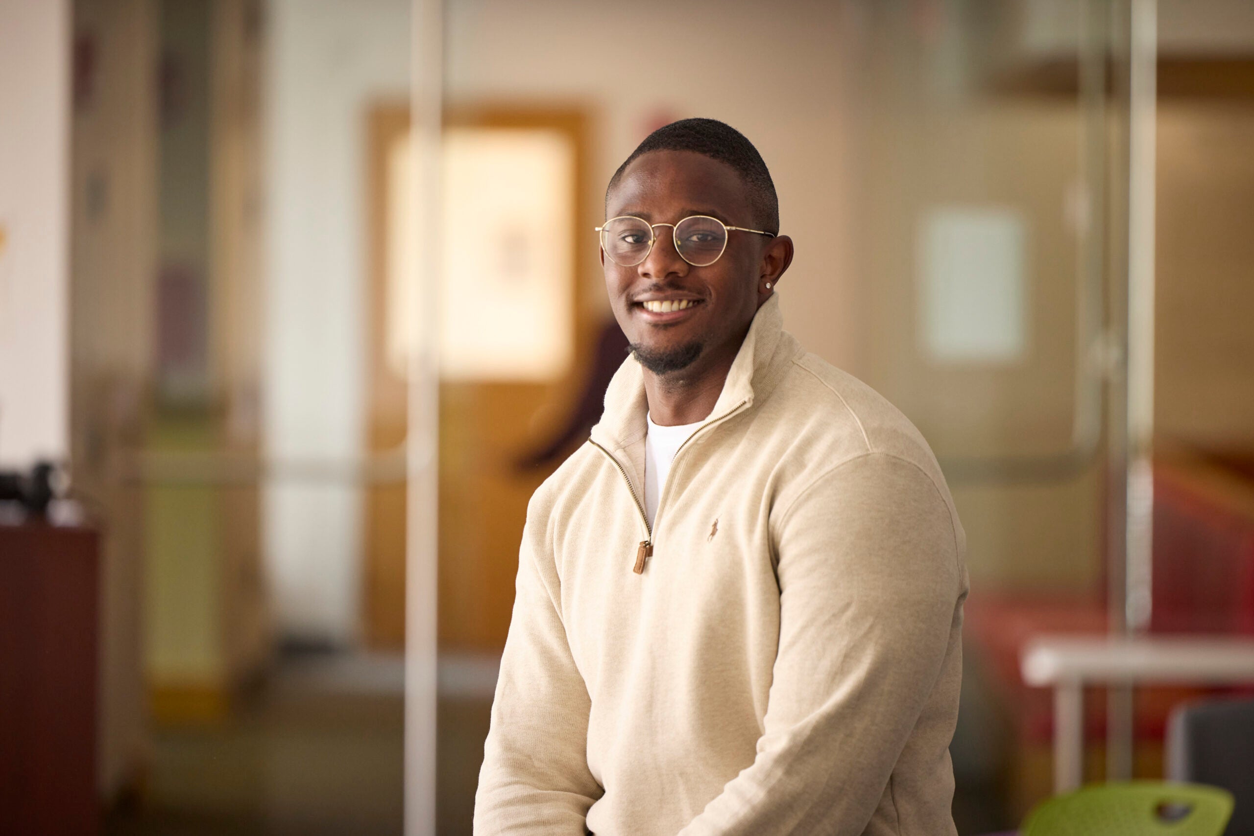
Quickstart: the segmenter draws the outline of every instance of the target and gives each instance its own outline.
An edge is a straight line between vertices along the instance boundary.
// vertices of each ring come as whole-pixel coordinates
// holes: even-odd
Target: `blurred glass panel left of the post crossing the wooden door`
[[[370,555],[404,560],[405,436],[372,382],[369,145],[410,89],[410,3],[73,10],[104,832],[394,836],[404,595]]]

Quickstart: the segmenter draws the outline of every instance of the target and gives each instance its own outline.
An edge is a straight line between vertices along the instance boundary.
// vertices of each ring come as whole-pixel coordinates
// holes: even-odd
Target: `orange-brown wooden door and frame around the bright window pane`
[[[551,466],[522,464],[552,436],[574,401],[598,322],[588,317],[582,298],[581,266],[594,264],[594,226],[584,194],[586,129],[577,110],[479,107],[451,109],[445,119],[450,132],[474,129],[480,139],[545,135],[563,138],[569,149],[569,177],[563,197],[567,211],[562,239],[569,269],[553,288],[563,311],[551,330],[569,345],[569,357],[548,362],[548,371],[503,371],[473,367],[466,351],[454,350],[443,363],[439,434],[439,640],[441,649],[497,652],[504,645],[513,607],[518,544],[527,503]],[[401,445],[406,426],[406,386],[395,343],[389,342],[389,239],[386,214],[396,187],[389,177],[389,149],[408,134],[408,108],[381,105],[370,115],[370,386],[369,450],[382,454]],[[446,143],[446,148],[454,148]],[[446,155],[448,157],[448,155]],[[450,191],[446,188],[445,192]],[[448,199],[446,199],[448,204]],[[594,214],[594,209],[593,209]],[[584,229],[587,227],[587,229]],[[583,234],[587,232],[587,234]],[[446,236],[448,238],[448,236]],[[532,236],[530,238],[534,238]],[[503,241],[503,252],[519,256],[528,236]],[[446,246],[446,249],[450,249]],[[472,281],[458,274],[466,252],[445,252],[445,281]],[[393,293],[395,286],[393,286]],[[454,291],[456,288],[453,288]],[[475,326],[461,321],[458,336]],[[488,327],[488,326],[484,326]],[[448,337],[441,340],[449,345]],[[463,341],[464,345],[464,341]],[[448,353],[448,350],[446,350]],[[469,353],[474,353],[470,351]],[[490,365],[490,363],[489,363]],[[480,365],[482,366],[482,365]],[[371,484],[366,491],[365,613],[366,637],[374,647],[404,643],[405,613],[405,485]]]

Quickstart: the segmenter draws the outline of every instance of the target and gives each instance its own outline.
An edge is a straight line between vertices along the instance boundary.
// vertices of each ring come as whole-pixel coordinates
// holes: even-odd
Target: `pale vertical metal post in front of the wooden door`
[[[440,139],[444,107],[443,0],[413,3],[410,137],[414,154],[419,335],[409,357],[405,554],[405,836],[435,836],[436,476],[439,459]]]

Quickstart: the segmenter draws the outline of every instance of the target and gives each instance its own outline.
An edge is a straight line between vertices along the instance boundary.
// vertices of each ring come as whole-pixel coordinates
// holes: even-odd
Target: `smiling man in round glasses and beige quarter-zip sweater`
[[[966,538],[918,430],[782,331],[757,150],[627,158],[601,261],[631,342],[532,499],[477,833],[953,833]]]

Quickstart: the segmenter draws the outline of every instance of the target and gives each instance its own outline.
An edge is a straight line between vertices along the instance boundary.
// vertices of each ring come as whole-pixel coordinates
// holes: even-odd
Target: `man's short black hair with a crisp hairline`
[[[607,206],[609,193],[618,185],[627,167],[638,157],[653,150],[691,150],[731,165],[749,187],[749,206],[754,213],[754,223],[762,232],[779,233],[780,202],[762,155],[745,134],[717,119],[680,119],[645,137],[645,142],[636,145],[631,157],[624,159],[609,178],[609,185],[606,187]]]

